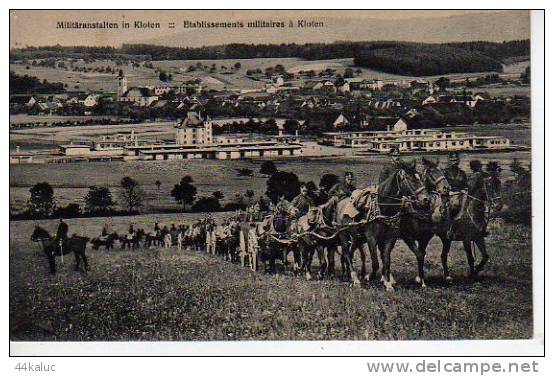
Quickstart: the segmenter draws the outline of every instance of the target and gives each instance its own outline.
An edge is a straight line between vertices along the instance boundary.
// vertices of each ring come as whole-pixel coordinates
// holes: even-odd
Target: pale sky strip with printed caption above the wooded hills
[[[502,15],[506,15],[503,22]],[[491,17],[492,26],[486,20]],[[499,18],[500,16],[500,18]],[[483,18],[485,17],[485,18]],[[298,19],[322,21],[324,29],[254,29],[254,30],[186,30],[184,20],[254,21]],[[127,21],[160,22],[159,30],[76,30],[56,29],[58,21]],[[452,20],[452,29],[448,25]],[[485,21],[483,21],[485,20]],[[167,24],[175,22],[175,29]],[[464,25],[467,24],[467,30]],[[476,27],[477,24],[477,27]],[[513,25],[513,26],[510,26]],[[420,27],[421,26],[421,30]],[[509,29],[509,28],[512,29]],[[483,29],[480,32],[480,29]],[[368,10],[368,11],[10,11],[10,47],[44,45],[119,46],[123,43],[155,43],[171,46],[283,42],[330,42],[334,40],[413,40],[459,41],[524,39],[528,35],[529,13],[526,11],[482,10]],[[416,30],[417,29],[417,30]],[[504,30],[506,29],[506,30]]]

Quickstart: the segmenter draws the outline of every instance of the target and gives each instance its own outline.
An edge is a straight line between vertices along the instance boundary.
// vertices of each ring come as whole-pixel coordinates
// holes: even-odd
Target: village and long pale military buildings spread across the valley
[[[234,69],[239,66],[235,64]],[[98,123],[12,124],[10,129],[15,133],[52,126],[71,129],[86,125],[94,129],[96,125],[117,125],[119,119],[129,119],[130,123],[163,120],[169,126],[162,139],[132,129],[106,132],[85,142],[71,139],[55,149],[29,151],[18,146],[10,153],[10,163],[282,158],[310,156],[315,150],[322,155],[341,155],[342,148],[386,153],[392,146],[403,152],[521,148],[506,137],[477,136],[447,127],[483,120],[528,121],[527,97],[493,97],[469,90],[483,82],[525,85],[524,76],[377,80],[353,77],[356,72],[351,68],[342,74],[330,68],[318,73],[286,71],[279,65],[270,68],[265,74],[261,70],[246,72],[248,77],[264,82],[259,88],[207,90],[199,79],[134,86],[120,69],[113,78],[117,82],[115,92],[13,95],[10,111],[14,115],[26,114],[33,119],[115,117],[109,123],[101,119]],[[498,114],[497,118],[482,119],[491,113]],[[314,144],[319,148],[314,149]]]

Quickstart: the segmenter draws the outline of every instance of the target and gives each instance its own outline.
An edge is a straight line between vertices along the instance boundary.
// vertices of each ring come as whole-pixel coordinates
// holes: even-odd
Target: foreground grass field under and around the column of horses
[[[114,230],[194,218],[119,217]],[[56,228],[55,221],[39,223]],[[103,223],[68,220],[70,234],[87,236],[98,235]],[[425,266],[428,287],[421,289],[413,281],[415,257],[397,245],[392,271],[398,285],[391,293],[377,282],[362,288],[339,279],[308,282],[176,249],[89,249],[88,274],[73,271],[69,255],[50,276],[46,257],[29,240],[33,224],[10,223],[13,341],[511,339],[533,333],[530,239],[510,225],[491,229],[491,262],[475,282],[464,277],[465,254],[456,243],[454,281],[442,281],[434,239]]]

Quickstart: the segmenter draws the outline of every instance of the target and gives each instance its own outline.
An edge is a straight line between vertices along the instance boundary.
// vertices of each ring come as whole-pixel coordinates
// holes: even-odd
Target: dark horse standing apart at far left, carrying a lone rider
[[[73,235],[71,238],[68,238],[63,246],[60,249],[60,244],[58,241],[50,236],[48,231],[43,229],[40,226],[35,226],[35,230],[31,235],[31,240],[38,242],[46,256],[48,257],[48,264],[50,265],[50,273],[56,273],[56,256],[66,255],[71,252],[75,254],[75,270],[80,270],[81,259],[85,265],[85,271],[89,270],[87,256],[85,255],[85,250],[87,248],[87,242],[89,238],[83,236]]]

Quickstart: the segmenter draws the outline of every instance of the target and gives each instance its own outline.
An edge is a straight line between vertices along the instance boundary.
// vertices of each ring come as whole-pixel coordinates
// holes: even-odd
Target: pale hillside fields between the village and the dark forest
[[[236,63],[241,63],[241,68],[238,72],[227,74],[230,68]],[[197,70],[194,72],[187,72],[187,68],[190,65],[201,63],[211,67],[215,64],[217,71],[210,73],[207,71]],[[346,68],[355,68],[354,61],[350,59],[329,59],[329,60],[314,60],[307,61],[299,58],[259,58],[259,59],[228,59],[228,60],[167,60],[167,61],[154,61],[153,66],[161,68],[162,70],[171,73],[173,75],[173,83],[178,84],[181,82],[200,79],[202,86],[206,89],[224,90],[224,89],[253,89],[263,88],[264,84],[268,81],[254,80],[246,76],[248,69],[260,68],[262,72],[265,72],[267,67],[274,67],[277,64],[281,64],[285,69],[291,73],[298,73],[299,71],[314,70],[317,72],[325,70],[327,68],[336,69],[337,73],[344,74]],[[76,65],[84,66],[84,63],[78,63]],[[517,62],[515,64],[504,65],[504,72],[500,74],[505,78],[518,78],[519,75],[525,70],[525,67],[529,65],[529,62]],[[94,63],[86,64],[87,68],[95,67],[107,67],[110,66],[113,69],[123,69],[128,79],[130,87],[133,86],[149,86],[149,85],[163,85],[158,78],[158,74],[154,69],[141,67],[133,67],[130,64],[127,66],[116,66],[114,61],[105,60],[97,61]],[[227,70],[221,67],[225,66]],[[84,91],[105,91],[115,92],[117,89],[116,75],[111,73],[98,73],[98,72],[73,72],[70,70],[54,69],[47,67],[30,66],[26,69],[25,65],[10,64],[10,70],[13,70],[17,74],[28,74],[36,76],[39,79],[46,79],[50,82],[62,82],[68,84],[68,90],[84,90]],[[360,68],[361,73],[356,77],[364,79],[378,79],[378,80],[412,80],[412,79],[436,79],[439,76],[429,77],[414,77],[414,76],[401,76],[395,74],[389,74],[384,72],[375,71],[368,68]],[[478,77],[483,75],[482,73],[467,73],[467,74],[448,74],[444,75],[451,80],[463,80],[466,77]],[[302,79],[305,80],[305,79]],[[302,81],[300,80],[300,81]],[[267,81],[267,82],[266,82]]]

